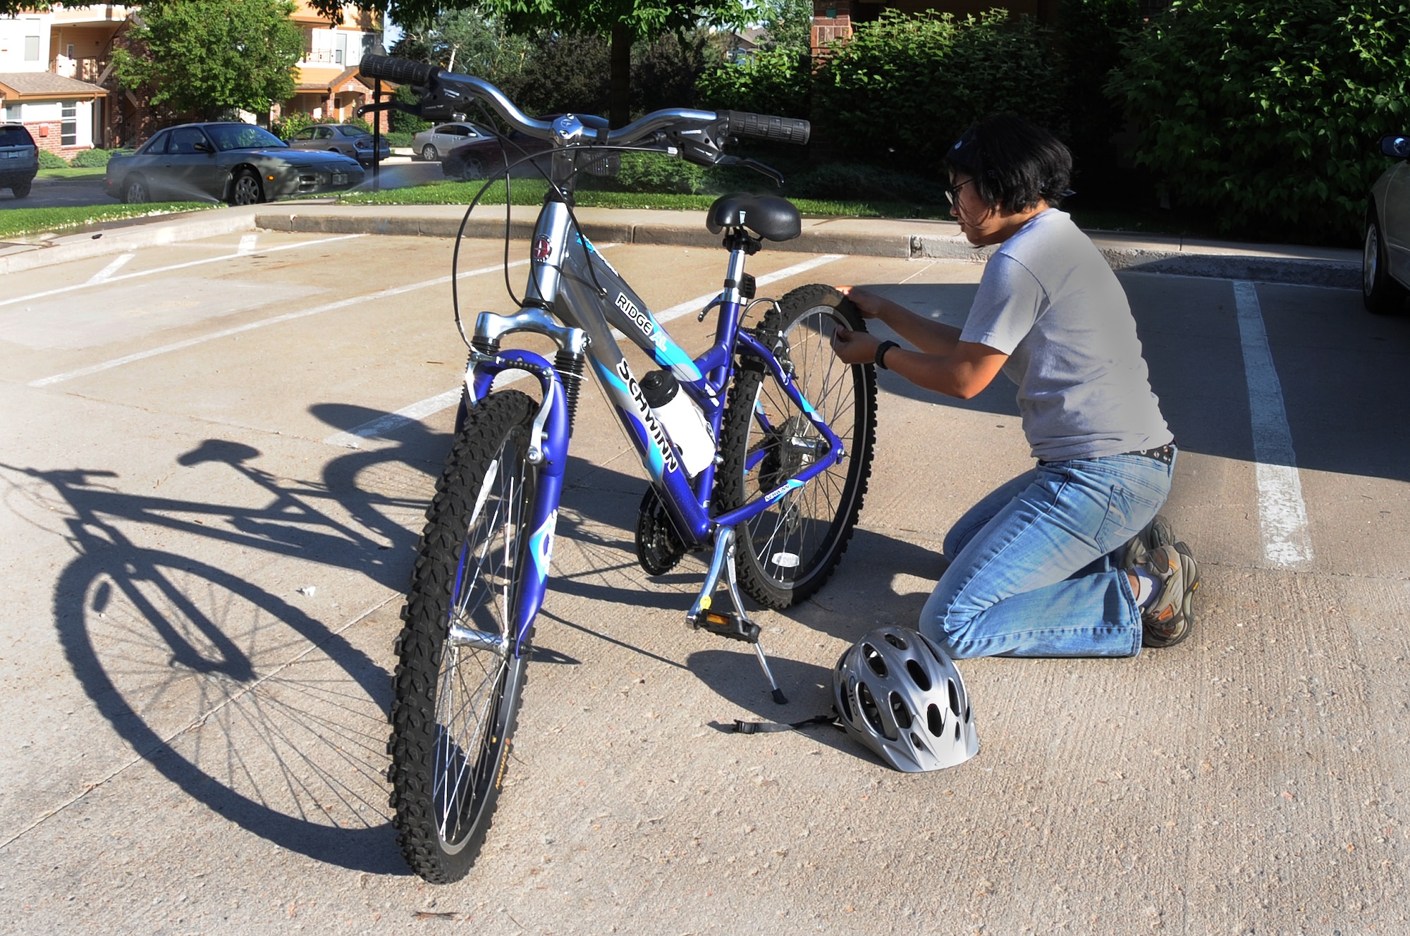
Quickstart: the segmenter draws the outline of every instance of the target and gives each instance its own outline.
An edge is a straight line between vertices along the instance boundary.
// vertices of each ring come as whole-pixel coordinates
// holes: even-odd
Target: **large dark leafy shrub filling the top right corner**
[[[1176,0],[1108,87],[1176,207],[1228,233],[1351,241],[1386,166],[1375,140],[1410,124],[1407,38],[1402,0]]]

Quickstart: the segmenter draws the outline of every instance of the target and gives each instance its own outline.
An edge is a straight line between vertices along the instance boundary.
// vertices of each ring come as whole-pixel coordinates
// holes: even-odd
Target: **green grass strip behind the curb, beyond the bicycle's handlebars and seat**
[[[384,192],[351,192],[338,196],[340,204],[470,204],[484,182],[429,182],[405,189]],[[539,179],[515,179],[509,195],[515,204],[540,204],[548,183]],[[719,196],[715,195],[647,195],[637,192],[594,192],[580,189],[578,207],[599,209],[674,209],[704,211]],[[943,217],[939,209],[918,213],[900,202],[830,202],[819,199],[790,199],[802,214],[821,217]],[[481,204],[503,204],[505,183],[495,182],[485,192]]]

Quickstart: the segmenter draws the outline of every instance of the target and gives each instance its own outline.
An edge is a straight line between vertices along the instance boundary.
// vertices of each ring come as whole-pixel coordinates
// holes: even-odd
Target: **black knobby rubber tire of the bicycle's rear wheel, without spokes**
[[[783,297],[778,309],[770,309],[764,314],[761,334],[787,331],[804,313],[819,306],[829,306],[846,321],[846,327],[853,331],[866,331],[862,313],[832,286],[812,283],[799,286]],[[781,309],[781,312],[780,312]],[[742,361],[735,369],[735,381],[730,385],[725,405],[725,419],[721,426],[721,465],[719,481],[716,484],[716,500],[722,510],[733,510],[743,506],[757,495],[749,491],[746,476],[746,458],[749,448],[749,433],[753,424],[754,399],[766,379],[763,362],[749,358]],[[876,443],[876,412],[877,389],[876,368],[873,365],[853,365],[852,393],[856,398],[860,390],[862,399],[856,399],[856,430],[852,440],[852,450],[847,451],[847,474],[842,503],[832,527],[818,553],[816,561],[811,562],[808,577],[797,582],[780,582],[771,577],[754,555],[749,523],[736,527],[735,567],[739,585],[744,593],[766,608],[783,610],[804,601],[832,577],[842,555],[847,551],[852,533],[862,513],[862,502],[867,492],[867,482],[871,476],[871,450]],[[807,393],[805,393],[807,395]],[[814,400],[816,403],[816,400]],[[825,414],[826,416],[826,414]],[[821,484],[822,476],[815,478],[801,491],[808,491],[812,484]]]

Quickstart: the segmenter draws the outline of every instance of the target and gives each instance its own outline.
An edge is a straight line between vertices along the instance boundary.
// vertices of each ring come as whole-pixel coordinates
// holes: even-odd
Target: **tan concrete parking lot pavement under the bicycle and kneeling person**
[[[698,218],[581,214],[704,348],[725,255]],[[444,218],[203,216],[0,252],[6,932],[1410,932],[1410,320],[1335,282],[1354,254],[1101,238],[1182,443],[1197,629],[964,661],[981,753],[935,774],[719,729],[826,710],[842,648],[915,620],[948,526],[1031,465],[1012,388],[881,375],[846,558],[760,613],[787,706],[684,626],[697,558],[636,564],[644,475],[585,393],[505,795],[470,877],[431,887],[384,771],[464,364]],[[940,223],[805,237],[750,259],[761,293],[870,283],[959,321],[983,271]],[[477,309],[510,309],[501,258],[462,248]]]

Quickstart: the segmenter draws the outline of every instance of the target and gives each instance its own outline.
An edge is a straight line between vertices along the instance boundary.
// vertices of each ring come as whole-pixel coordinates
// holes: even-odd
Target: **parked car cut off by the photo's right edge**
[[[1385,314],[1400,312],[1410,293],[1410,134],[1382,137],[1380,152],[1396,162],[1371,186],[1361,297]]]

